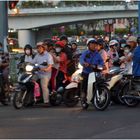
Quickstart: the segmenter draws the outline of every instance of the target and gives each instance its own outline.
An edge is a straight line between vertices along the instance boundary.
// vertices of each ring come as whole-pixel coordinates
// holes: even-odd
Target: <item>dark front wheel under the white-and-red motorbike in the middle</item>
[[[67,107],[74,107],[78,104],[79,102],[79,97],[77,95],[77,89],[73,88],[73,89],[66,89],[64,92],[64,104]]]

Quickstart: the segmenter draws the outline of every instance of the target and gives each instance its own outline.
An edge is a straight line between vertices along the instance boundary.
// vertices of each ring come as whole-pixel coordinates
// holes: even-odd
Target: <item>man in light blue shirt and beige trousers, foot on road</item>
[[[38,71],[39,78],[41,80],[41,88],[43,92],[43,100],[46,107],[50,106],[49,103],[49,89],[48,84],[51,78],[52,72],[52,65],[53,65],[53,58],[52,56],[46,51],[43,42],[37,43],[37,54],[33,60],[34,64],[40,65],[40,70]],[[47,66],[42,66],[43,62],[47,62]]]

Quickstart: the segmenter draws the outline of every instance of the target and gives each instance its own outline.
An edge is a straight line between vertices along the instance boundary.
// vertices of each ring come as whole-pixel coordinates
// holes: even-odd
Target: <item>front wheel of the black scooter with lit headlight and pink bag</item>
[[[15,92],[13,96],[13,106],[15,109],[20,109],[24,106],[24,99],[27,90],[20,90]],[[24,97],[24,99],[22,99]]]

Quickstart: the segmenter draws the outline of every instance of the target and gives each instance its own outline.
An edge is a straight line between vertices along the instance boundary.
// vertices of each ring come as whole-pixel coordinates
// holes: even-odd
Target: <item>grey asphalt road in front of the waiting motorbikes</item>
[[[136,139],[140,138],[140,106],[111,105],[105,111],[92,106],[32,107],[16,110],[0,105],[1,139]]]

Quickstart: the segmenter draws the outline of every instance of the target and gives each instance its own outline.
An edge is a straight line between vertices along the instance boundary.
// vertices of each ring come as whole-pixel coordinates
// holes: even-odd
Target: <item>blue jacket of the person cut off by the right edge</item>
[[[133,52],[133,69],[134,76],[140,76],[140,46],[137,46]]]

